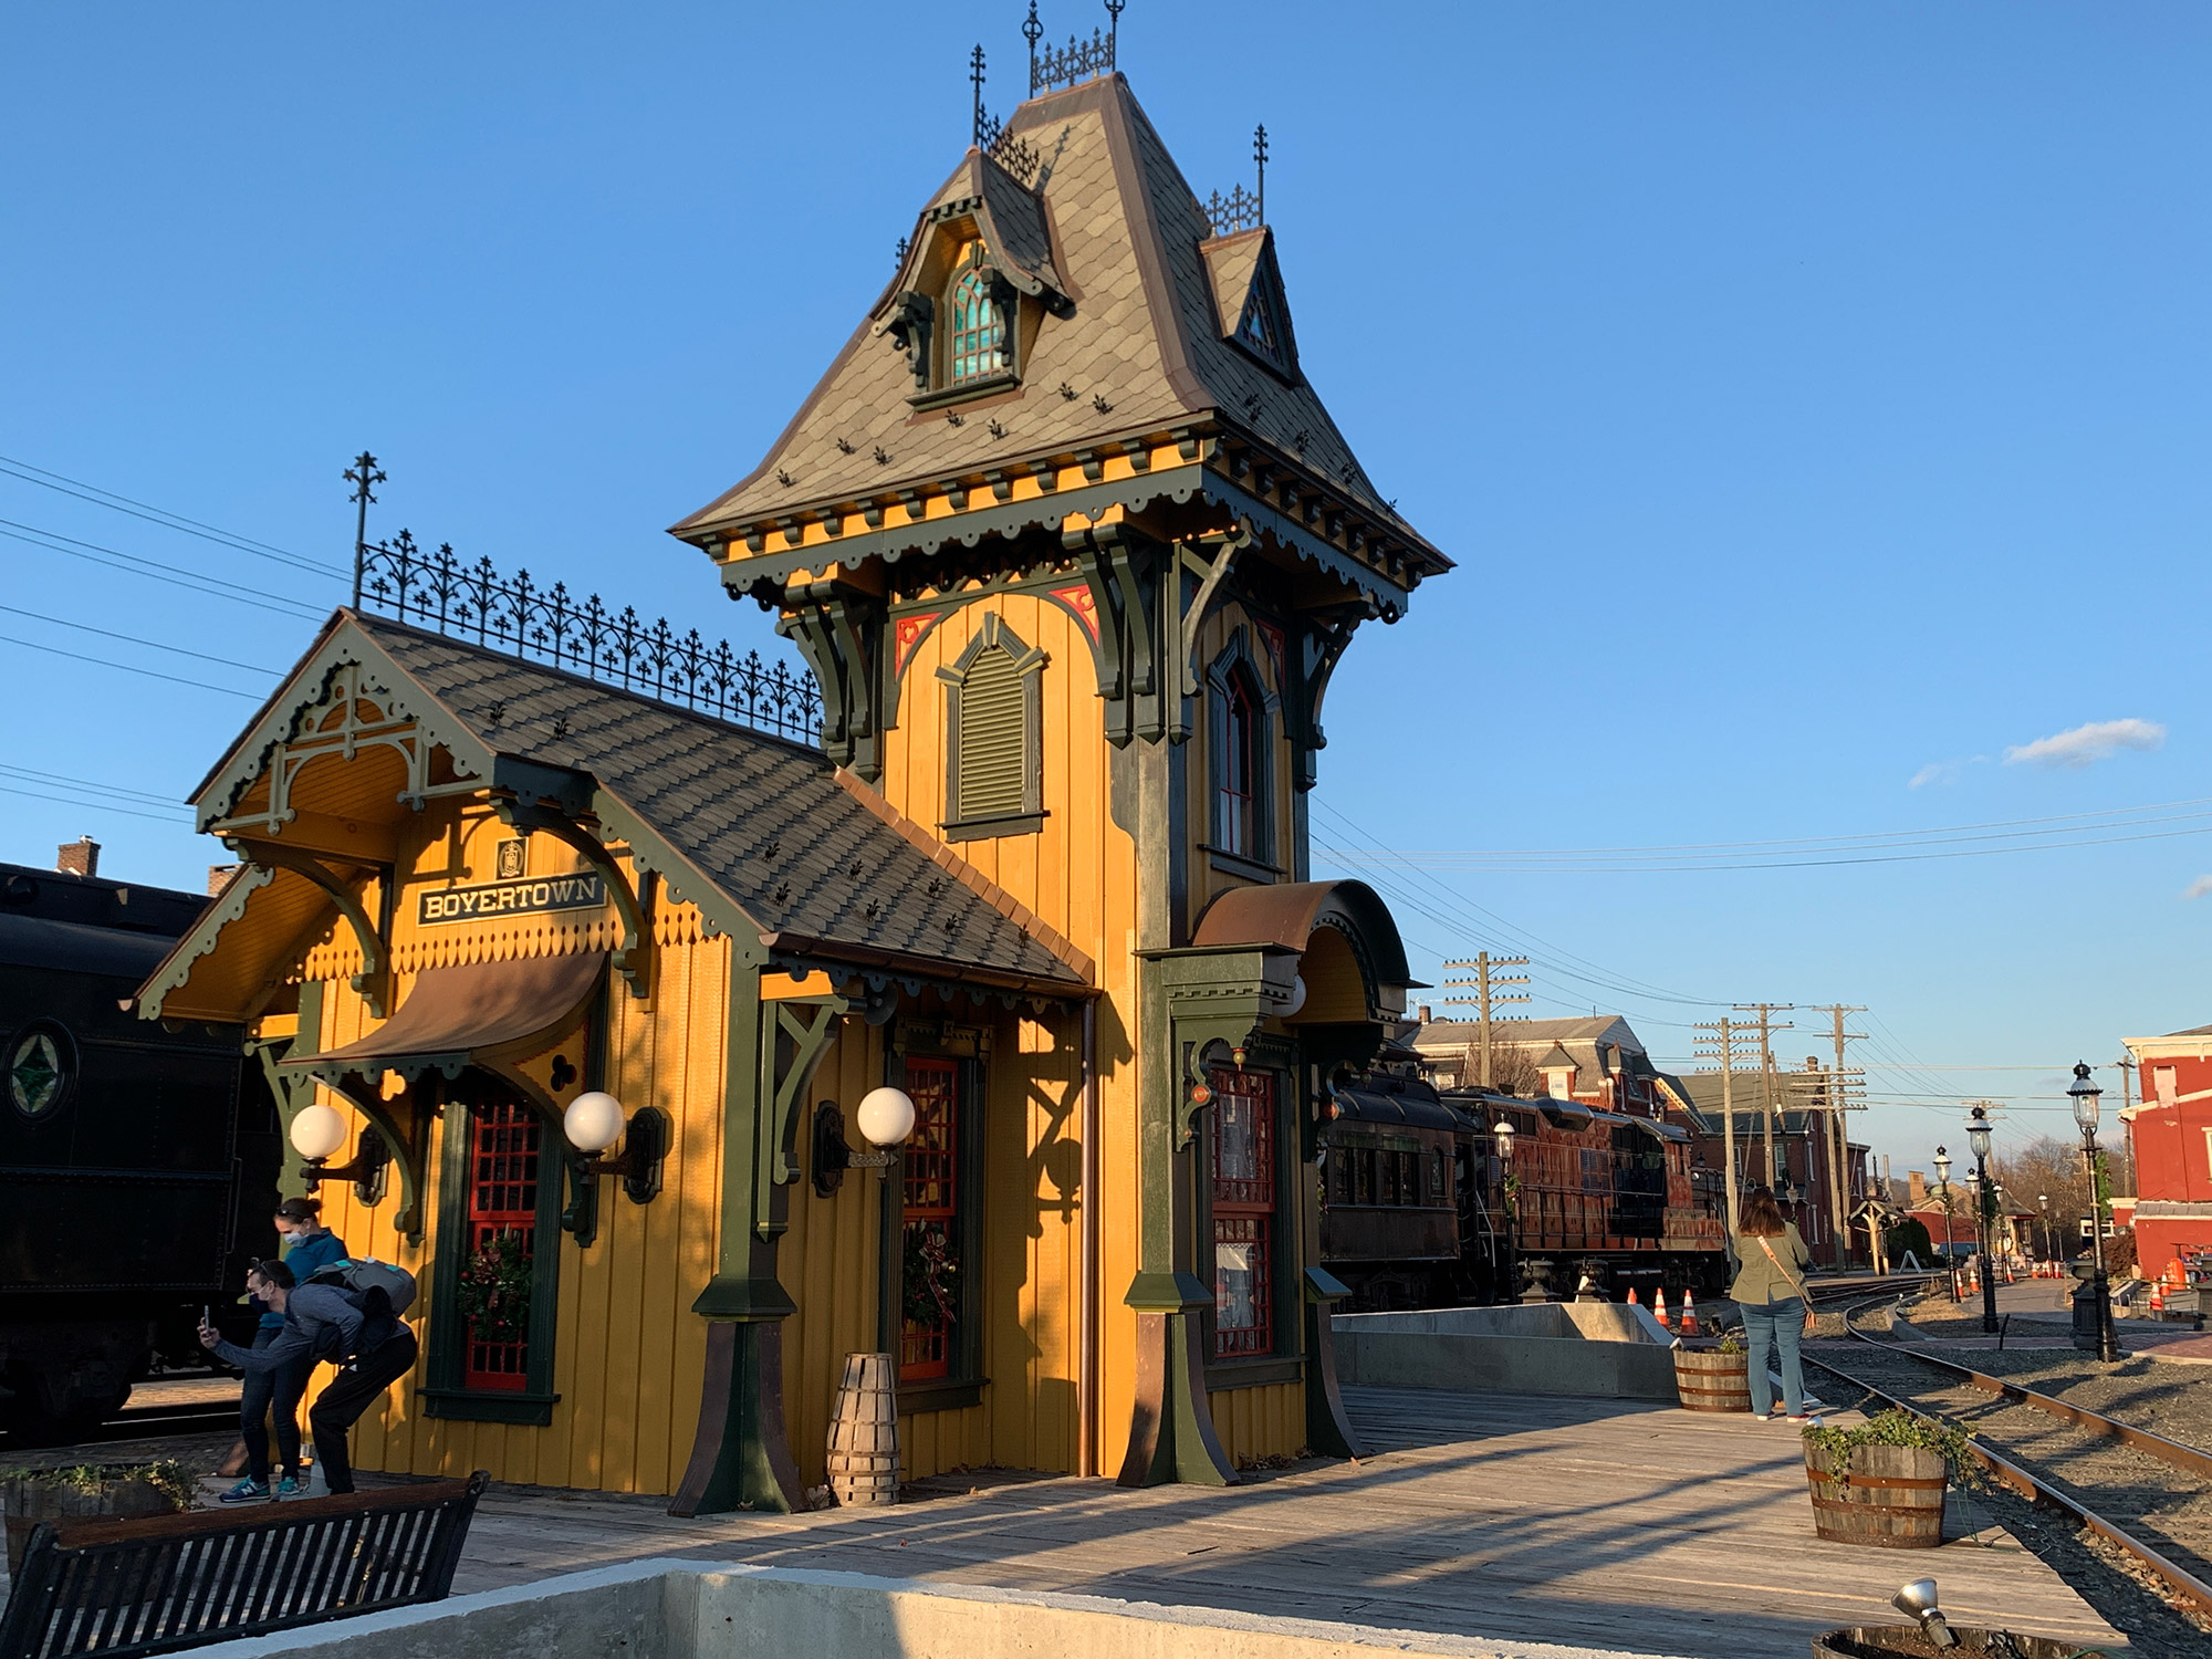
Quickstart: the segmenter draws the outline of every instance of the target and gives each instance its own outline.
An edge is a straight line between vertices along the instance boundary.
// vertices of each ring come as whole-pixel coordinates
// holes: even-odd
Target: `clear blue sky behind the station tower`
[[[661,526],[880,288],[978,38],[1011,106],[1020,11],[11,7],[0,456],[336,566],[367,445],[385,531],[772,646]],[[1728,1002],[1869,1004],[1900,1170],[1960,1097],[2057,1130],[2064,1062],[2212,1020],[2212,15],[1135,0],[1121,40],[1201,192],[1267,124],[1305,367],[1460,562],[1363,630],[1316,810],[1522,854],[1343,865],[1425,978],[1528,945],[1535,1013],[1677,1062]],[[13,476],[0,520],[341,597]],[[179,799],[312,624],[53,546],[0,538],[0,856],[88,830],[197,885],[217,849],[111,792]],[[1792,852],[2059,814],[1885,856],[2104,845]],[[1719,843],[1783,845],[1526,856]]]

